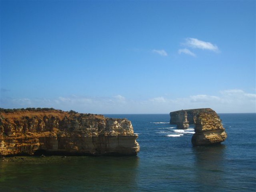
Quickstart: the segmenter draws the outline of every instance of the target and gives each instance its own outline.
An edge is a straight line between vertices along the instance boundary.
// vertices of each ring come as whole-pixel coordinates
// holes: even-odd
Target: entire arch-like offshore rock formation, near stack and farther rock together
[[[218,114],[210,108],[180,110],[170,113],[171,124],[179,129],[186,129],[195,124],[192,145],[204,146],[218,144],[226,140],[227,133]]]

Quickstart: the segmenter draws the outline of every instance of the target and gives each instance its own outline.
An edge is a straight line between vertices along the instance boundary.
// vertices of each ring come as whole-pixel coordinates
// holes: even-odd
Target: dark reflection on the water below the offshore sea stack
[[[195,181],[199,191],[214,191],[224,184],[225,145],[194,147]]]

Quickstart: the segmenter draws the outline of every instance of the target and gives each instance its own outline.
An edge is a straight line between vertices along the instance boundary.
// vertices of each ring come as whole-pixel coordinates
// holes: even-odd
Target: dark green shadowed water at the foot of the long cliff
[[[0,162],[0,191],[134,191],[139,157],[30,157]]]

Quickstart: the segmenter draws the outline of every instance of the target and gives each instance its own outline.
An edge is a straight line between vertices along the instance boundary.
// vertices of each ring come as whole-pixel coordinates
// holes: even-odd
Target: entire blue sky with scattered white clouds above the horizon
[[[256,112],[255,0],[1,0],[0,108]]]

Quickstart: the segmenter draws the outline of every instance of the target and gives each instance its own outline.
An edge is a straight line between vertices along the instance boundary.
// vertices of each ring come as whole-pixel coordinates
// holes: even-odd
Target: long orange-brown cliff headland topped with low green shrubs
[[[131,122],[60,110],[0,112],[0,156],[137,155]]]

